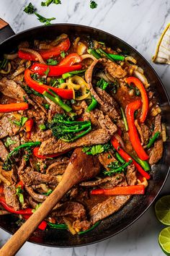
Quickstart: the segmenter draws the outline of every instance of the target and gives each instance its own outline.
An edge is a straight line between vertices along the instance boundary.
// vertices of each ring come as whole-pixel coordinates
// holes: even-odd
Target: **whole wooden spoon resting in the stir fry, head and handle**
[[[40,222],[50,213],[56,203],[61,200],[63,195],[68,192],[71,187],[91,179],[99,173],[100,165],[95,156],[86,155],[82,152],[82,148],[76,148],[68,163],[63,178],[48,198],[42,203],[35,213],[17,230],[17,232],[9,239],[1,248],[1,256],[12,256],[22,247],[27,241]]]

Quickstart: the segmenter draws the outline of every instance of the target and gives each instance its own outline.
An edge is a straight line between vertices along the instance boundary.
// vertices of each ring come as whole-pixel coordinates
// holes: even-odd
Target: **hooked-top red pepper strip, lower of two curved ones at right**
[[[146,151],[143,149],[142,145],[140,144],[140,139],[138,137],[138,131],[135,127],[135,119],[134,119],[134,114],[135,111],[138,110],[138,108],[140,108],[141,106],[141,101],[137,100],[137,101],[133,101],[131,103],[129,103],[126,106],[125,109],[125,114],[126,114],[126,118],[128,121],[128,127],[129,127],[129,137],[130,137],[130,142],[133,145],[133,148],[135,150],[135,152],[137,153],[138,157],[141,160],[147,160],[149,157],[146,154]]]

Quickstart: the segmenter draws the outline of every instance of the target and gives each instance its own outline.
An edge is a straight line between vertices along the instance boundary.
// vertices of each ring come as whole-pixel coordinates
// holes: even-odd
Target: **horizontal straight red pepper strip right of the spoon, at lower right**
[[[144,195],[144,185],[114,187],[112,189],[93,189],[91,195]]]

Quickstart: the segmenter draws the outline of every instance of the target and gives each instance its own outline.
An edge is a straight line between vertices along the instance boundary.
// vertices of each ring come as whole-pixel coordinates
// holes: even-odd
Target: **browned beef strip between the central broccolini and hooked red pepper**
[[[101,99],[99,109],[107,114],[112,120],[120,119],[120,112],[117,110],[117,102],[106,91],[96,88],[97,95]]]

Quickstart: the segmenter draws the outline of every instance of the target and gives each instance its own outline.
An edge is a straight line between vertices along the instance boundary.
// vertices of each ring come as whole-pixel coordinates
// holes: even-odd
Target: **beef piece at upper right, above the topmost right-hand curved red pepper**
[[[99,61],[101,62],[102,66],[104,66],[106,72],[112,77],[122,78],[127,74],[127,72],[125,72],[120,65],[110,61],[109,59],[100,59]]]

